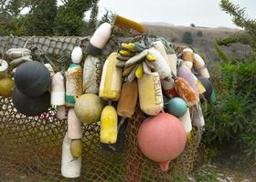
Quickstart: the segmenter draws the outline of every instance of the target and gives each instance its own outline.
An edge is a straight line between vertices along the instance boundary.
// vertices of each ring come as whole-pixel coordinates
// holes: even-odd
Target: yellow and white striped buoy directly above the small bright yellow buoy
[[[99,96],[105,100],[116,101],[120,97],[123,69],[115,66],[117,53],[112,53],[104,63]]]

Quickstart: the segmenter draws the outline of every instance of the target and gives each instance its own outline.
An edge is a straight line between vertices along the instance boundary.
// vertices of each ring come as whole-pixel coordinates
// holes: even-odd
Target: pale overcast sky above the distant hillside
[[[231,0],[247,8],[256,18],[256,0]],[[100,0],[99,16],[105,9],[138,22],[165,22],[172,25],[236,27],[231,17],[220,10],[220,0]]]

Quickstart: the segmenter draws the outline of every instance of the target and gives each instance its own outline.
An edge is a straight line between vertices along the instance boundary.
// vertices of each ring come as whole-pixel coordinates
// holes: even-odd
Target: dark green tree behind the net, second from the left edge
[[[37,1],[26,17],[27,35],[54,35],[54,21],[57,13],[57,0]]]

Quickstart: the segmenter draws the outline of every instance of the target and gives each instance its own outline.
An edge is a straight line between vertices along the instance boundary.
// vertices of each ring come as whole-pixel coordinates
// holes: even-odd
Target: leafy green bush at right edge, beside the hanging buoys
[[[256,62],[225,62],[219,70],[220,75],[213,77],[219,101],[205,107],[205,141],[209,147],[232,142],[256,159]]]

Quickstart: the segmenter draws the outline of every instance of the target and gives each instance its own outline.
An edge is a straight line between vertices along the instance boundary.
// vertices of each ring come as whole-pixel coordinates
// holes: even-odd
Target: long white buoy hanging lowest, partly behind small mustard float
[[[63,177],[80,177],[81,157],[72,157],[70,152],[71,139],[66,133],[62,143],[61,175]]]

